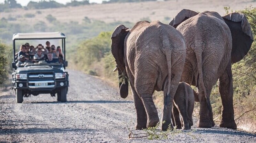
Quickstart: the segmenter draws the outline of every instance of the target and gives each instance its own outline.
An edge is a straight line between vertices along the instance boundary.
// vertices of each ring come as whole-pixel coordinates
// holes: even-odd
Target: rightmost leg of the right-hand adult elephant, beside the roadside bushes
[[[226,67],[223,75],[219,79],[219,91],[221,94],[222,102],[222,118],[220,127],[236,129],[234,121],[234,108],[233,108],[233,79],[231,71],[231,62]]]

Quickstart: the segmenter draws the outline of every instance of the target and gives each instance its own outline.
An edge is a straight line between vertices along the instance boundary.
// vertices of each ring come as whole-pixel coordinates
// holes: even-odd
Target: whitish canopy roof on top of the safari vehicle
[[[61,32],[48,33],[16,33],[13,34],[12,40],[30,40],[30,39],[65,39],[65,34]]]

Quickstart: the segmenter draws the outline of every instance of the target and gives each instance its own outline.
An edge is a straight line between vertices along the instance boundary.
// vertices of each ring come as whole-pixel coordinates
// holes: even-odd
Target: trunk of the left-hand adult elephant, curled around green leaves
[[[126,72],[123,73],[119,69],[118,69],[118,83],[119,83],[120,96],[122,98],[126,98],[128,96],[128,76]]]

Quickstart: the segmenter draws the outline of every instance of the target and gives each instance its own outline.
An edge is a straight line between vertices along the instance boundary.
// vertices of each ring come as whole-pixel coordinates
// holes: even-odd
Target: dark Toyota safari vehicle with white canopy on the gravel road
[[[68,73],[65,71],[67,61],[65,61],[65,35],[60,32],[54,33],[17,33],[12,37],[13,40],[13,62],[12,67],[12,88],[15,90],[16,102],[22,103],[23,97],[29,97],[31,94],[50,93],[55,96],[57,101],[67,101]],[[17,65],[17,53],[20,45],[30,42],[31,45],[44,44],[50,41],[54,44],[62,45],[64,54],[63,59],[58,59],[57,63],[47,63],[44,59],[35,63],[24,62]],[[16,53],[16,54],[15,54]],[[47,57],[47,56],[46,56]]]

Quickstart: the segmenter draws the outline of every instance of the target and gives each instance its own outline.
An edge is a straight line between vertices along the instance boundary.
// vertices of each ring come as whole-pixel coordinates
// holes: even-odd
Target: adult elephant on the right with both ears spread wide
[[[216,12],[182,10],[169,25],[177,28],[186,42],[186,60],[181,81],[198,88],[198,127],[214,126],[210,93],[219,79],[222,100],[220,127],[236,129],[233,109],[231,63],[240,61],[250,49],[253,35],[244,14],[220,16]]]

